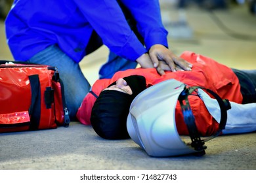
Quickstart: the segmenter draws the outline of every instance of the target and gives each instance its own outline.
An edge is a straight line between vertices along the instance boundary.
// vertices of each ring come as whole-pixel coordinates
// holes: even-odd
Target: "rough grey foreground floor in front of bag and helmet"
[[[205,156],[151,158],[131,139],[108,141],[91,126],[1,134],[0,169],[256,169],[256,134],[217,137]]]

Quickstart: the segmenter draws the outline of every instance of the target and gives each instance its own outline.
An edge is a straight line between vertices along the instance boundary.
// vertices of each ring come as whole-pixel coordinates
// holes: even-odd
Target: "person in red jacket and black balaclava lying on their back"
[[[183,52],[181,58],[193,64],[192,71],[166,71],[161,76],[156,69],[138,68],[117,72],[111,79],[96,80],[81,103],[77,118],[82,124],[91,124],[104,139],[127,139],[126,121],[133,99],[150,86],[175,79],[188,86],[207,88],[230,101],[232,108],[228,110],[223,134],[256,130],[256,70],[230,69],[194,52]],[[210,136],[218,131],[218,122],[209,114],[200,97],[190,96],[189,103],[200,135]],[[234,114],[234,109],[239,114]],[[175,119],[179,135],[188,135],[179,103]]]

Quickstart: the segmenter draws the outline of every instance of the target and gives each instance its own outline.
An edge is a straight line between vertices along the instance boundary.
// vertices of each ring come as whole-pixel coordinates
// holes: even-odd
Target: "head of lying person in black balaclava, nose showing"
[[[133,99],[146,89],[144,76],[119,78],[100,92],[91,112],[91,125],[104,139],[128,139],[126,121]]]

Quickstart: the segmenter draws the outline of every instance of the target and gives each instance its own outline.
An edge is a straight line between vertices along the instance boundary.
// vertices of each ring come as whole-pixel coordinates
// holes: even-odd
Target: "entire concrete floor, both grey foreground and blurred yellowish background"
[[[188,27],[182,29],[184,36],[179,35],[179,27],[169,24],[179,20],[173,4],[165,3],[162,13],[175,54],[190,50],[229,67],[256,69],[256,16],[249,14],[246,5],[232,5],[214,14],[196,6],[186,8]],[[232,30],[234,37],[224,33],[215,16]],[[102,46],[81,61],[91,84],[98,78],[98,69],[107,55],[108,49]],[[3,22],[0,59],[12,60]],[[256,170],[256,133],[217,137],[206,146],[203,157],[150,158],[131,140],[106,141],[91,126],[73,122],[68,128],[0,134],[0,169]]]

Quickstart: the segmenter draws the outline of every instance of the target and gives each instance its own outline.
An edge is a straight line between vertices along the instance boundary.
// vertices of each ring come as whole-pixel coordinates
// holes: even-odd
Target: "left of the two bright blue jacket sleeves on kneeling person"
[[[74,1],[112,52],[133,61],[147,52],[131,31],[116,0]]]

